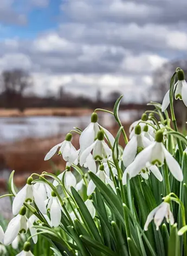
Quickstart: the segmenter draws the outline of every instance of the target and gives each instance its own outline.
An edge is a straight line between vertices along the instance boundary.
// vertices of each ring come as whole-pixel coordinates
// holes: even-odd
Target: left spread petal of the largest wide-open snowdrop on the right
[[[130,170],[130,178],[136,176],[139,174],[139,172],[145,168],[146,163],[150,162],[151,160],[151,154],[152,149],[155,145],[155,142],[153,142],[149,147],[143,149],[137,156],[134,162],[131,165]]]

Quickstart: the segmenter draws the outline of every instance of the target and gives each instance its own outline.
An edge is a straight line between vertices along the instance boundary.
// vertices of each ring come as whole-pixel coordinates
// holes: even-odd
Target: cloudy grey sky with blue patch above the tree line
[[[186,0],[1,0],[0,71],[29,70],[38,94],[63,85],[141,101],[155,69],[187,58],[186,10]]]

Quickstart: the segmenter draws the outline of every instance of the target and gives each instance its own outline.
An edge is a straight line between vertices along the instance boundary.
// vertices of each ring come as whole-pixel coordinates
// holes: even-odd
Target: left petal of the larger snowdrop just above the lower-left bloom
[[[12,204],[12,213],[14,215],[17,215],[20,209],[22,208],[26,194],[27,194],[27,187],[28,184],[26,184],[17,194],[16,197],[14,198],[13,204]]]

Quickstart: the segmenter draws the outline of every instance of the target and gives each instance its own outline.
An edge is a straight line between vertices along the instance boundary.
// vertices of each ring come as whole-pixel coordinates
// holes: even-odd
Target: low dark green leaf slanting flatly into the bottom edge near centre
[[[114,251],[112,251],[111,249],[109,249],[107,246],[102,245],[100,242],[97,242],[93,239],[91,239],[90,237],[87,236],[83,236],[80,235],[80,239],[88,246],[91,246],[95,249],[97,249],[99,252],[103,252],[106,255],[110,255],[110,256],[119,256],[117,253],[115,253]]]

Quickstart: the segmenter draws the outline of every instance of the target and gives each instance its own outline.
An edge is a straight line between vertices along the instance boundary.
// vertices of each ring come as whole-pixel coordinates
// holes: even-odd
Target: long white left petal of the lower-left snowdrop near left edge
[[[17,215],[9,222],[7,230],[4,234],[4,245],[10,245],[10,243],[14,241],[14,239],[20,232],[20,220],[21,215]]]

